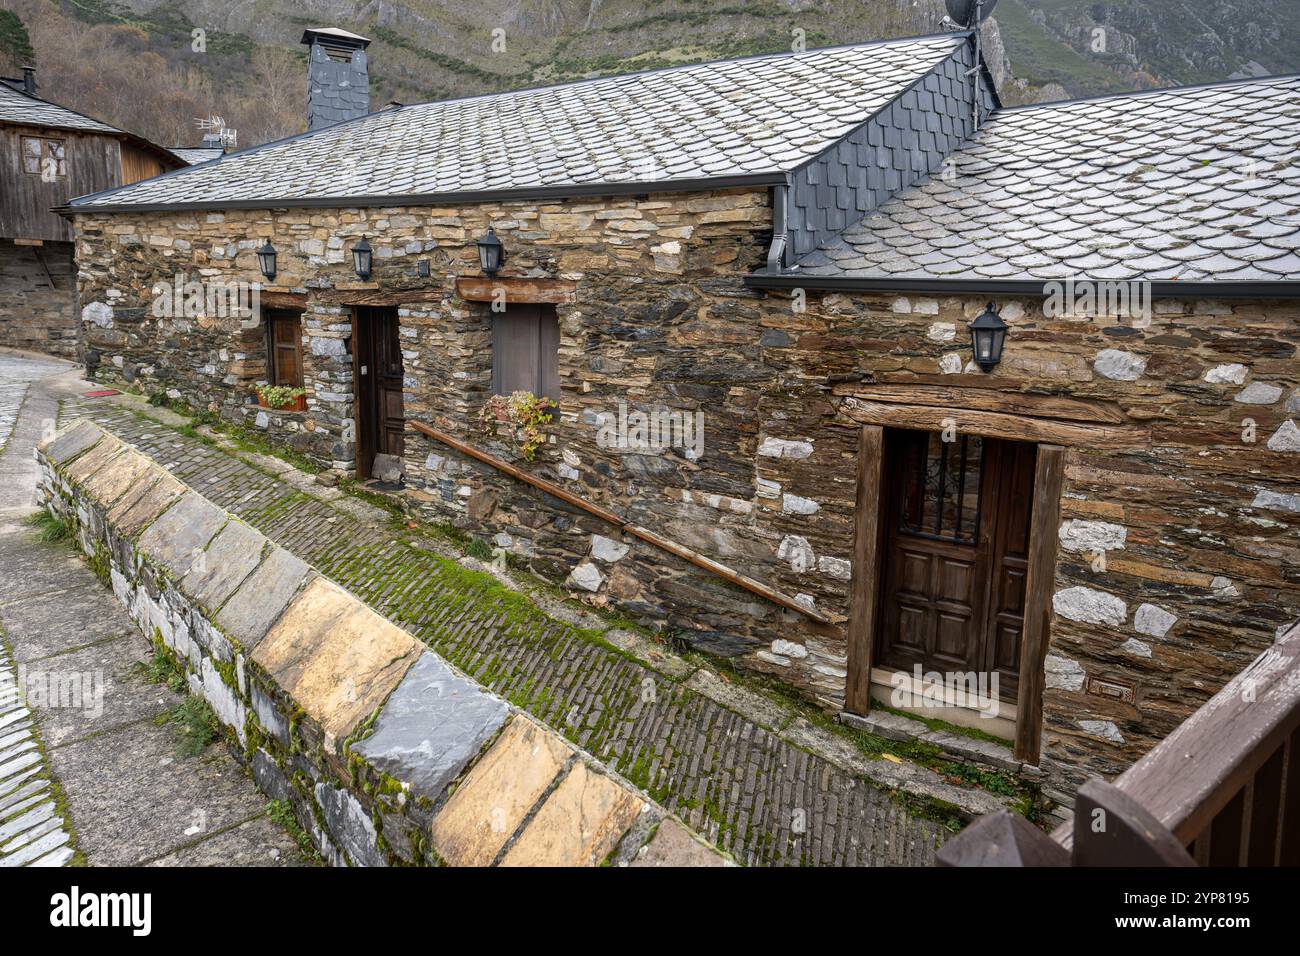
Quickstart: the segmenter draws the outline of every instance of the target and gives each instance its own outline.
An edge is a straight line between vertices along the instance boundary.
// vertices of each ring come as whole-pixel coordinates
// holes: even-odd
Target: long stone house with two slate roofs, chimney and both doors
[[[1005,109],[975,57],[359,109],[79,198],[90,365],[1069,799],[1300,611],[1300,78]],[[259,280],[256,320],[198,294]],[[556,403],[533,458],[482,420],[515,390]]]

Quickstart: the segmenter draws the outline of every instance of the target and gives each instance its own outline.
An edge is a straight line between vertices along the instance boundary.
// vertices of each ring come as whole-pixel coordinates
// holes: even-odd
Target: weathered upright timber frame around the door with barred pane
[[[871,710],[871,658],[880,624],[881,555],[884,553],[884,457],[885,428],[916,428],[915,408],[896,407],[897,424],[863,424],[858,436],[858,489],[853,516],[853,575],[849,587],[848,674],[844,708],[852,714]],[[927,408],[926,412],[933,411]],[[1013,416],[1000,416],[1013,418]],[[1002,423],[1000,423],[1002,424]],[[928,429],[937,431],[937,429]],[[1037,428],[1008,436],[1005,424],[989,434],[980,428],[962,429],[989,438],[1034,441],[1045,437]],[[1054,436],[1053,436],[1054,437]],[[1044,658],[1052,618],[1052,588],[1056,581],[1057,529],[1061,523],[1061,493],[1065,447],[1037,444],[1034,473],[1034,505],[1030,516],[1030,555],[1024,585],[1024,626],[1020,635],[1019,688],[1015,706],[1015,757],[1037,765],[1043,735]]]

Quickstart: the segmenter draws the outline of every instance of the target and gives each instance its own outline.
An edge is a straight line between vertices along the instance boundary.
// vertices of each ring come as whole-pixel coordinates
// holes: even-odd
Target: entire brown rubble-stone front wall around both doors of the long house
[[[857,458],[846,398],[937,384],[1002,390],[1014,412],[1017,393],[1060,394],[1104,403],[1140,429],[1131,449],[1069,451],[1044,734],[1063,787],[1131,762],[1300,610],[1296,306],[1164,300],[1141,328],[1049,320],[1036,300],[1002,299],[1008,354],[985,376],[967,364],[965,330],[983,299],[810,293],[801,311],[784,294],[746,289],[771,230],[766,193],[79,215],[87,358],[101,378],[248,420],[350,471],[350,303],[382,297],[399,307],[408,420],[519,463],[508,441],[477,428],[490,307],[454,290],[456,274],[477,274],[473,242],[489,224],[507,247],[506,276],[572,282],[556,306],[560,418],[528,467],[841,623]],[[367,284],[348,256],[361,234],[376,247]],[[177,272],[254,281],[254,248],[268,238],[280,251],[277,290],[307,293],[304,414],[251,405],[265,377],[260,328],[151,313],[152,284]],[[432,261],[432,278],[417,277],[419,259]],[[619,402],[702,410],[703,455],[599,447],[602,416]],[[680,628],[826,706],[842,702],[840,627],[620,541],[612,525],[410,428],[406,468],[408,499],[426,515],[451,516],[590,600]],[[1115,687],[1131,692],[1109,696]]]

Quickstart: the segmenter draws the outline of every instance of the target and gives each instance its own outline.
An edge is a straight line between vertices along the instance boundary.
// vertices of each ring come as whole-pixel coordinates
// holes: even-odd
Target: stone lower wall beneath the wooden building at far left
[[[0,345],[77,358],[73,243],[0,239]]]

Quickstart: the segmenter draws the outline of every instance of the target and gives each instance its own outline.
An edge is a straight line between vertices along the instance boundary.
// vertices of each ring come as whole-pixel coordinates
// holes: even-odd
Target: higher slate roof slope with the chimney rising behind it
[[[202,208],[776,181],[967,42],[966,33],[942,34],[399,107],[73,206]]]

